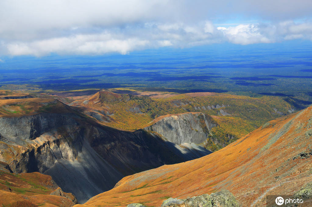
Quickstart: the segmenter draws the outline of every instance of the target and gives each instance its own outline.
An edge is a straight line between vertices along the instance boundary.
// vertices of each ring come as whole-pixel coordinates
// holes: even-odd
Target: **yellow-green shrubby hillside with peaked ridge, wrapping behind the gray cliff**
[[[210,134],[220,140],[206,143],[206,148],[212,151],[221,149],[269,120],[295,110],[283,99],[273,96],[251,98],[211,92],[132,94],[116,94],[102,90],[69,105],[79,108],[81,112],[104,125],[130,131],[144,128],[154,119],[168,114],[196,112],[211,115],[218,126],[214,127]]]

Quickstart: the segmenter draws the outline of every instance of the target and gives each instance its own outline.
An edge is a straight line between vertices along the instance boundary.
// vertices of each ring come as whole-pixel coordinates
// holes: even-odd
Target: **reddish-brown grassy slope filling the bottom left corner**
[[[51,176],[40,173],[10,173],[0,162],[1,206],[72,206],[77,200],[64,193]],[[8,167],[7,167],[8,168]]]

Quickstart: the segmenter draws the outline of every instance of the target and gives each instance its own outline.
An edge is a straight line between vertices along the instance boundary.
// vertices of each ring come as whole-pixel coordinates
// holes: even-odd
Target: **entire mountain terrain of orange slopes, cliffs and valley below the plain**
[[[208,197],[256,206],[295,195],[312,169],[311,107],[297,111],[272,96],[2,90],[1,202],[159,206],[220,192]]]

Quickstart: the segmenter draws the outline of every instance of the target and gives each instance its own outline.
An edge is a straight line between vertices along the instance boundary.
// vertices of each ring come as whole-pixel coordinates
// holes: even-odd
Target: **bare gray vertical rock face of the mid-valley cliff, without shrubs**
[[[160,119],[145,130],[155,131],[176,145],[204,142],[217,123],[203,113],[183,113]]]

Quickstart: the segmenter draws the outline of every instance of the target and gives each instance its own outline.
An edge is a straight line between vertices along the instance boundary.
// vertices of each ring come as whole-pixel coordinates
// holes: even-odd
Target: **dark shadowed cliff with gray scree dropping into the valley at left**
[[[75,111],[2,116],[0,134],[0,161],[12,172],[50,175],[81,203],[126,175],[209,154],[144,130],[101,126]]]

